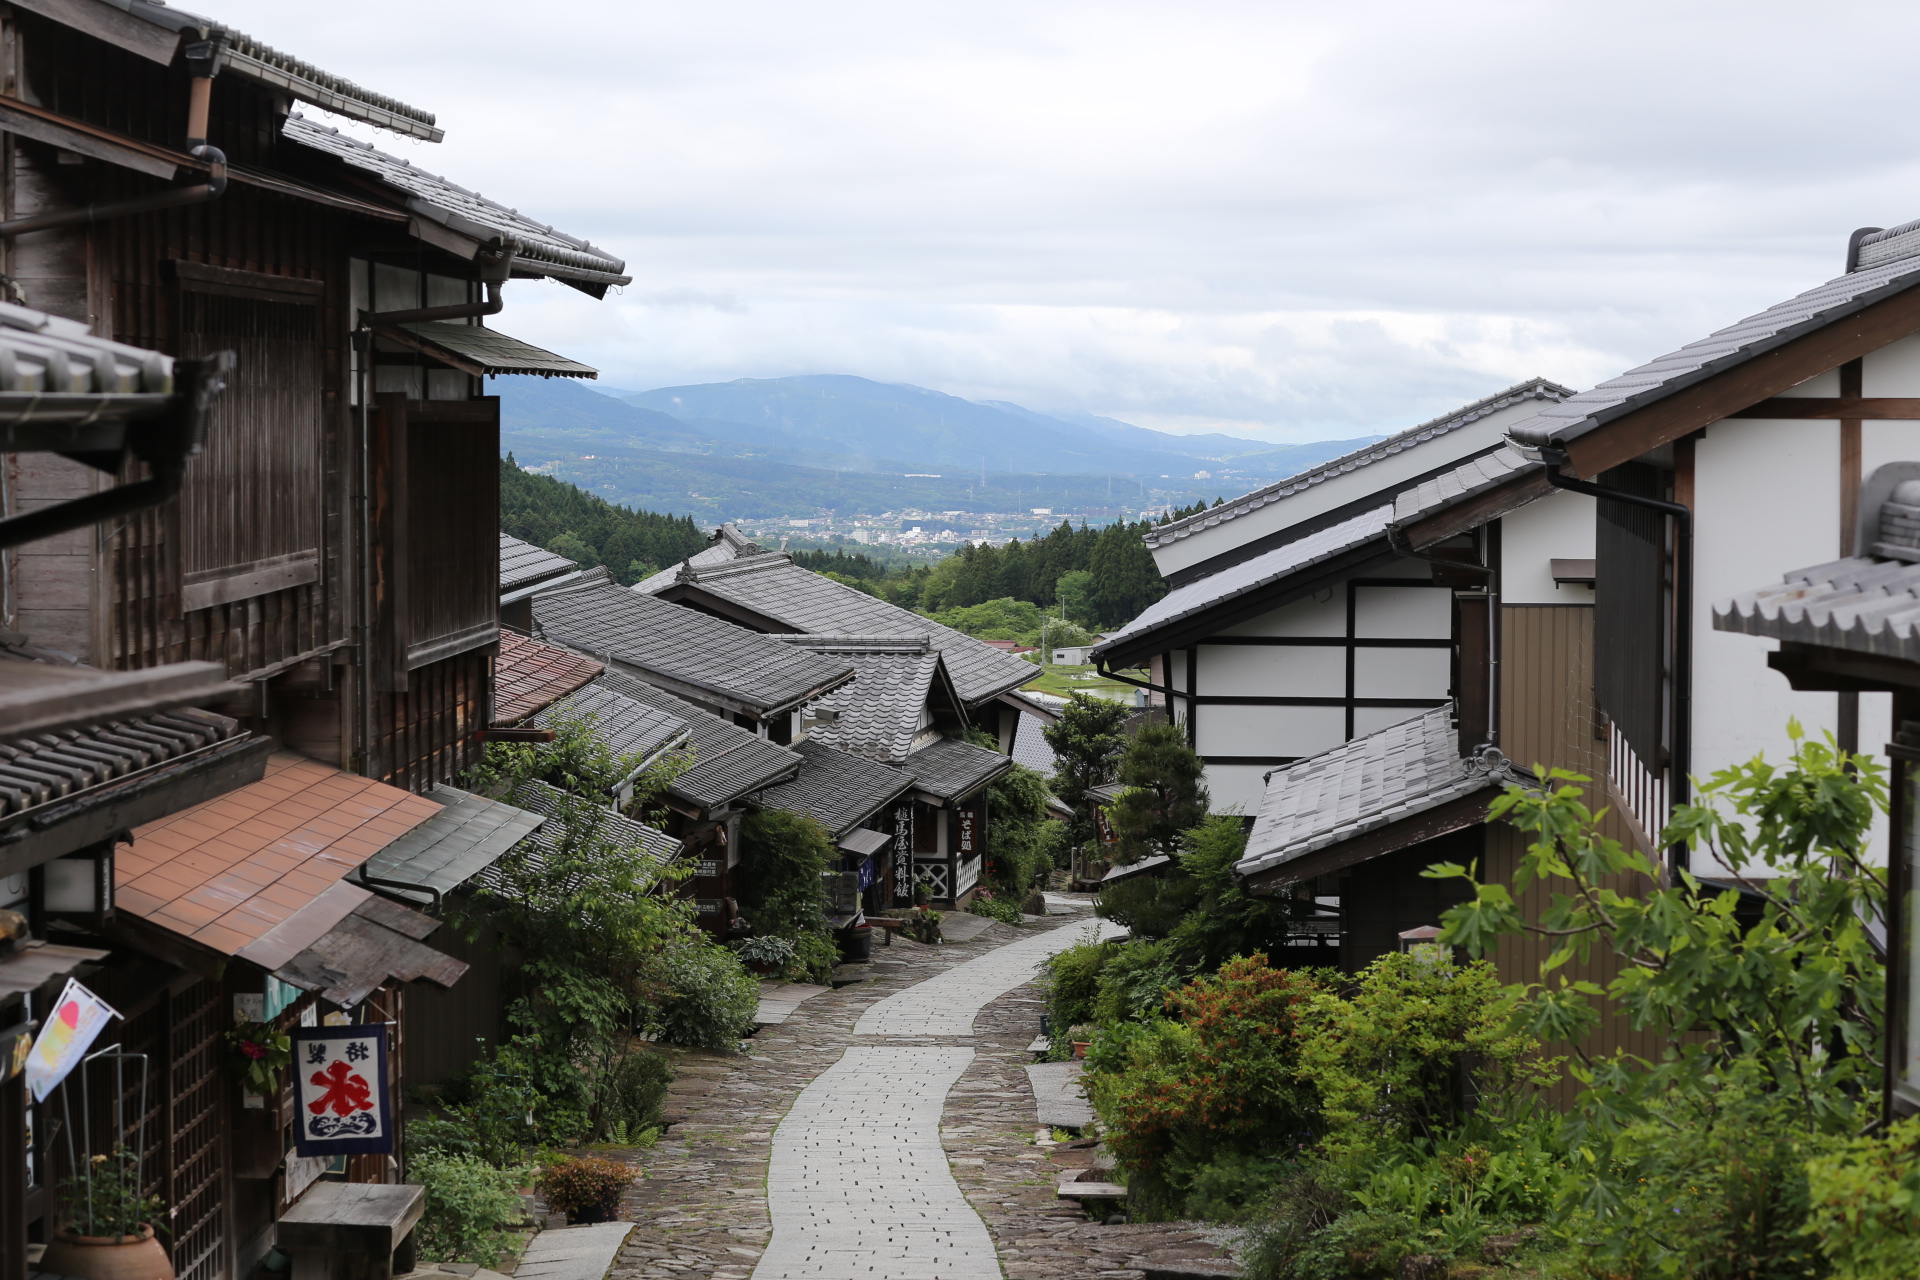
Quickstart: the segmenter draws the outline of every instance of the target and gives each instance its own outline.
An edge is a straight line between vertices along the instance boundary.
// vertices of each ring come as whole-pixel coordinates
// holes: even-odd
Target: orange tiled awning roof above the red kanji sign
[[[275,752],[257,783],[134,829],[113,858],[115,908],[278,969],[369,898],[340,877],[438,812]]]

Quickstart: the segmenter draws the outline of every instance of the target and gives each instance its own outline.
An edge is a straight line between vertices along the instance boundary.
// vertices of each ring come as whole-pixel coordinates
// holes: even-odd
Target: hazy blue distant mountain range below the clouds
[[[495,378],[488,390],[501,395],[501,447],[522,466],[703,520],[902,507],[1139,510],[1231,497],[1379,439],[1275,447],[1173,436],[845,374],[653,391]],[[1213,474],[1194,480],[1196,470]]]

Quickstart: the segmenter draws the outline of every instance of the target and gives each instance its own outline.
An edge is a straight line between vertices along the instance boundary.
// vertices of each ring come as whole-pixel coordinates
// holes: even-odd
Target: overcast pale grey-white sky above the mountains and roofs
[[[188,4],[624,257],[622,294],[513,284],[499,326],[636,390],[1392,432],[1590,386],[1920,217],[1912,4]]]

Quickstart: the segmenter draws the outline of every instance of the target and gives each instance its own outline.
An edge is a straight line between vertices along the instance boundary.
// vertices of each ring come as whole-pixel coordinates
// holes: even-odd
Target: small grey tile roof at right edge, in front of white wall
[[[1713,606],[1715,631],[1920,662],[1920,564],[1853,557]]]

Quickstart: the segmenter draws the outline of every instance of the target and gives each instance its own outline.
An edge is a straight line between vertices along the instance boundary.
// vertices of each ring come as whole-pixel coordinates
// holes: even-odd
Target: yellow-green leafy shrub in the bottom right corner
[[[1836,1280],[1920,1276],[1920,1119],[1809,1161],[1807,1197]]]

